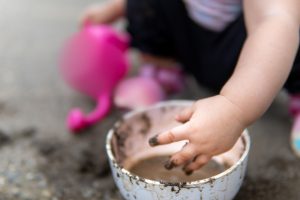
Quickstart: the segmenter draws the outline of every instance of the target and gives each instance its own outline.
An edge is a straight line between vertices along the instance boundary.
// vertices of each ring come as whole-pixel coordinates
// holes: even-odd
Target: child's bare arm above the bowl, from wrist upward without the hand
[[[291,70],[299,46],[299,0],[245,0],[248,38],[221,94],[247,124],[269,107]],[[300,77],[299,77],[300,78]]]

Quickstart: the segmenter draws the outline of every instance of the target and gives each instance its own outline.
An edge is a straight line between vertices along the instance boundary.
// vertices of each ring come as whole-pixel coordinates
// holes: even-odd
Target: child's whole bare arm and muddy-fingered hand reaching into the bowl
[[[248,37],[236,69],[220,95],[197,101],[177,116],[184,122],[150,139],[151,145],[189,140],[167,168],[190,173],[229,150],[282,88],[299,45],[299,0],[244,0]],[[192,163],[189,161],[193,160]]]

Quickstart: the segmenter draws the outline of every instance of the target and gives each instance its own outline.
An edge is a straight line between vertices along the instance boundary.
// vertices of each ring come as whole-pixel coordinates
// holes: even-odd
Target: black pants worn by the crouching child
[[[127,19],[132,47],[175,58],[200,84],[215,91],[233,73],[246,39],[242,15],[222,32],[213,32],[189,18],[182,0],[127,0]],[[299,52],[284,87],[300,93]]]

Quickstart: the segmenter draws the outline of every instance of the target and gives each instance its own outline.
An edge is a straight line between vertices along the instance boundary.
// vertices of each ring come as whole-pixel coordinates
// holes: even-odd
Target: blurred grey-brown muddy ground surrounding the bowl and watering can
[[[122,199],[107,166],[104,138],[122,114],[80,136],[64,125],[71,107],[93,102],[61,80],[57,58],[95,1],[0,0],[0,200]],[[191,80],[178,98],[207,95]],[[247,177],[237,200],[300,199],[300,160],[289,147],[284,93],[250,127]]]

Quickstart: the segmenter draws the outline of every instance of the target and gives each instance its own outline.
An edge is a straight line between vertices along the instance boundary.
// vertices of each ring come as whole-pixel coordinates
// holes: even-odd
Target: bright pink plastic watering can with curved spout
[[[114,88],[128,71],[128,45],[127,35],[107,25],[89,24],[66,43],[60,64],[63,78],[97,101],[89,114],[71,110],[67,125],[72,132],[93,125],[110,111]]]

